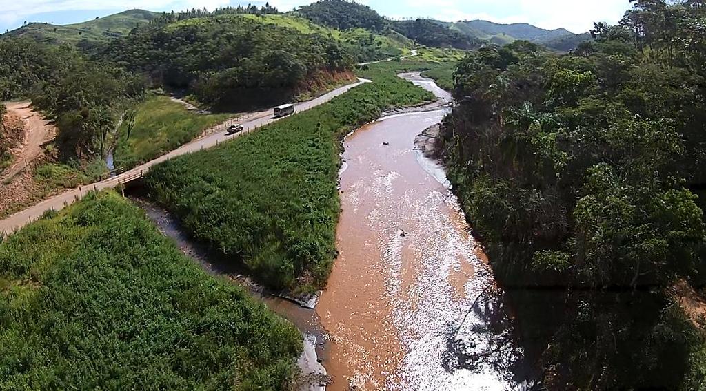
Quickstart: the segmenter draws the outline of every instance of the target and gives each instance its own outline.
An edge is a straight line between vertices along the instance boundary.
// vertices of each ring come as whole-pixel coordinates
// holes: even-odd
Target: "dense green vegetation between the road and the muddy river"
[[[381,67],[328,104],[152,168],[150,194],[271,287],[322,287],[335,257],[340,138],[385,108],[433,99]]]

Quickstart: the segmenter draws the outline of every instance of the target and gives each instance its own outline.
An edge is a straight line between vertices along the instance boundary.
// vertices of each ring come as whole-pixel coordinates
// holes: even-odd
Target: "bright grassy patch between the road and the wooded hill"
[[[133,167],[177,149],[203,130],[222,123],[232,114],[198,114],[162,95],[150,97],[138,106],[135,126],[127,139],[127,123],[118,130],[116,167]]]

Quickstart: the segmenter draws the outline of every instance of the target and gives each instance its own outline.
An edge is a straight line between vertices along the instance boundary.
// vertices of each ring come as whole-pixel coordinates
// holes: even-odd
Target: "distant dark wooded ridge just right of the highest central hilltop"
[[[482,44],[479,39],[451,30],[429,19],[399,20],[392,23],[393,28],[402,35],[426,46],[475,49]]]

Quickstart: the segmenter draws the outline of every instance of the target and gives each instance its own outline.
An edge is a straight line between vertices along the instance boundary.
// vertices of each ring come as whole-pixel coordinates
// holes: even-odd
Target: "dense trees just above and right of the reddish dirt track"
[[[68,46],[0,39],[0,100],[30,98],[56,120],[64,159],[100,155],[119,107],[143,97],[145,83]]]

